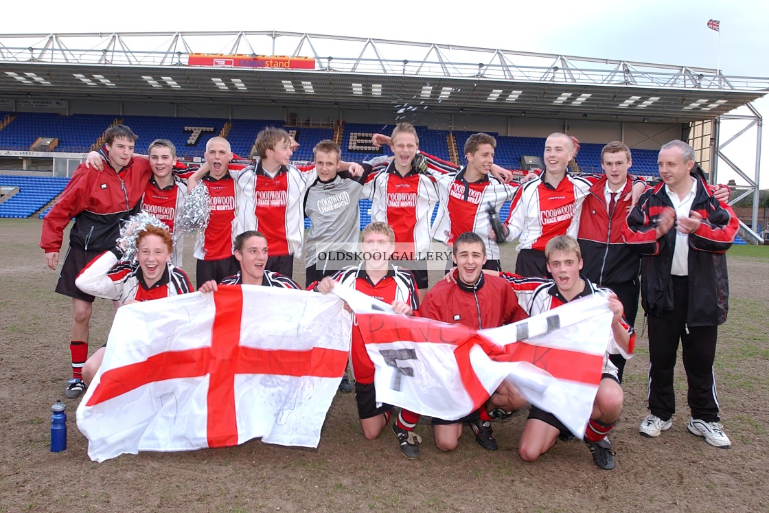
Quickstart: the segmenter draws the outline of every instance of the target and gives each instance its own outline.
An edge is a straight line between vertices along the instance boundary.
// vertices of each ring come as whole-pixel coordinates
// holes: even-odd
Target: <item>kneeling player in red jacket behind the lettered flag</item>
[[[431,288],[419,311],[421,317],[474,329],[497,328],[528,317],[518,306],[507,281],[483,272],[486,247],[480,235],[464,232],[456,238],[452,249],[457,267],[453,273],[454,281],[442,280]],[[514,411],[524,405],[526,400],[520,392],[503,381],[487,405],[467,417],[453,421],[433,418],[435,445],[441,451],[453,451],[462,435],[463,423],[468,422],[478,444],[489,451],[496,451],[498,445],[487,408]]]

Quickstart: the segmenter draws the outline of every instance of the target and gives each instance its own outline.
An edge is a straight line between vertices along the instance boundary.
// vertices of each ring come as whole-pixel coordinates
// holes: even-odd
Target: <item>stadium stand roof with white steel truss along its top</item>
[[[304,57],[311,68],[189,64],[202,53],[242,55],[251,66],[258,56]],[[769,78],[711,68],[295,32],[0,35],[0,98],[677,123],[716,118],[767,92]]]

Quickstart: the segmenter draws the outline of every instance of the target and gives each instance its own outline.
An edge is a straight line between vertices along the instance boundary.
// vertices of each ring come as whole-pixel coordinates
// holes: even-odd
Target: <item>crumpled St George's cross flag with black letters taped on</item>
[[[378,402],[445,420],[477,410],[503,380],[577,437],[593,410],[613,314],[591,295],[500,328],[473,330],[389,315],[388,305],[335,287],[348,302],[371,361]]]

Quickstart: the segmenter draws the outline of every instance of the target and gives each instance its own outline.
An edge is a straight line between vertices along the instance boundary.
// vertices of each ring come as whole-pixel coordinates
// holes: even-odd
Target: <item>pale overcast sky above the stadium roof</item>
[[[51,4],[46,12],[44,4]],[[762,0],[700,2],[5,2],[2,32],[174,32],[276,30],[351,35],[481,48],[716,68],[721,20],[725,75],[767,77],[769,4]],[[335,9],[338,6],[338,9]],[[483,8],[483,6],[485,6]],[[478,10],[481,7],[483,10]],[[218,12],[215,11],[218,8]],[[90,14],[88,14],[90,13]],[[769,100],[756,106],[769,116]],[[724,132],[737,132],[724,126]],[[722,135],[722,140],[725,138]],[[764,135],[761,177],[769,187],[769,132]],[[753,154],[746,147],[744,153]],[[734,152],[734,150],[732,150]],[[753,155],[727,155],[753,175]],[[723,172],[725,165],[721,165]],[[719,175],[719,182],[725,181]],[[741,183],[738,179],[737,183]]]

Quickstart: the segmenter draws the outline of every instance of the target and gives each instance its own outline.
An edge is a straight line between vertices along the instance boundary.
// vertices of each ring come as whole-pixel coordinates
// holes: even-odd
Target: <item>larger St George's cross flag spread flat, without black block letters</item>
[[[78,406],[88,455],[317,447],[350,339],[342,302],[307,291],[220,285],[118,308]]]

